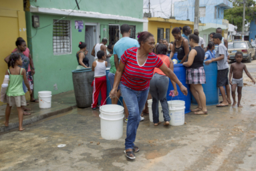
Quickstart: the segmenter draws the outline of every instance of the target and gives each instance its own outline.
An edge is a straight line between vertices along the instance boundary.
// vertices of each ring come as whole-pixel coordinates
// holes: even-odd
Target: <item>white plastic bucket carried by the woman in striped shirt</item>
[[[100,130],[102,138],[118,140],[123,136],[124,107],[107,104],[100,107]]]

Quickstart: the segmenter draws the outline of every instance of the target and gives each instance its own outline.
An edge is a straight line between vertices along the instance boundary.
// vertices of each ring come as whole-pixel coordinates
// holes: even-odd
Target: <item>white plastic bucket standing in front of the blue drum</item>
[[[180,126],[185,122],[185,102],[182,100],[170,100],[168,101],[170,125]]]

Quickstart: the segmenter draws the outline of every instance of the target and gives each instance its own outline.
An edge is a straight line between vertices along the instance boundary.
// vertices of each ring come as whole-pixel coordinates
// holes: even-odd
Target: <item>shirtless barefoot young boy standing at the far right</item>
[[[241,97],[242,97],[242,88],[243,88],[243,71],[245,70],[246,75],[253,81],[253,84],[255,84],[255,81],[253,80],[253,77],[251,77],[250,73],[247,71],[246,65],[241,63],[243,60],[243,53],[237,52],[235,53],[235,60],[236,62],[231,65],[230,73],[229,73],[229,84],[232,86],[232,97],[233,97],[233,107],[235,107],[235,104],[239,107],[243,107],[241,105]],[[233,79],[231,81],[231,76],[233,73]],[[235,100],[235,90],[237,89],[238,93],[238,102]]]

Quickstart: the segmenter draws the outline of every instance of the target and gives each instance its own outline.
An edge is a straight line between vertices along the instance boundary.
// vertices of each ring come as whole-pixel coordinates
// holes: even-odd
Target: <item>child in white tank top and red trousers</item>
[[[92,94],[93,110],[97,108],[100,92],[102,94],[102,101],[100,104],[101,106],[104,105],[104,102],[107,98],[106,67],[108,66],[108,62],[106,62],[104,51],[98,51],[97,57],[98,61],[94,61],[94,63],[92,63],[92,71],[94,71],[94,82],[92,83],[92,86],[94,86],[94,92]]]

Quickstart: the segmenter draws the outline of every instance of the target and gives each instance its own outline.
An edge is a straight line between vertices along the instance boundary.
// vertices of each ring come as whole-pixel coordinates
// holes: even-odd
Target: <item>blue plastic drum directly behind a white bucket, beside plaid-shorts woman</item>
[[[188,95],[185,96],[181,91],[180,87],[177,85],[178,96],[169,96],[170,90],[174,90],[172,83],[169,79],[169,86],[166,94],[167,101],[169,100],[183,100],[185,102],[185,113],[190,112],[190,104],[191,104],[191,95],[189,85],[186,85],[186,69],[182,64],[174,64],[174,74],[178,77],[178,80],[182,83],[182,85],[186,86],[188,89]]]

